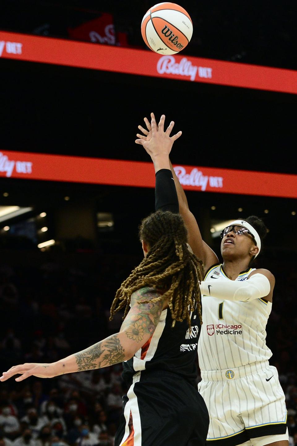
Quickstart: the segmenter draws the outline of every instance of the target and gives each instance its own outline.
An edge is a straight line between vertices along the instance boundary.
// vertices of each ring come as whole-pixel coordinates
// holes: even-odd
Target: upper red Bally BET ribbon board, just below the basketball
[[[297,71],[0,31],[0,58],[297,94]]]

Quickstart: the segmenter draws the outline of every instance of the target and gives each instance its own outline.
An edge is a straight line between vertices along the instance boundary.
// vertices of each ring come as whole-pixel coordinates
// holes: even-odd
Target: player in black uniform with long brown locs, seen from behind
[[[195,385],[203,268],[188,249],[178,208],[167,209],[174,212],[155,212],[140,226],[144,259],[111,307],[111,317],[125,308],[119,332],[54,363],[14,366],[0,378],[51,378],[124,361],[129,390],[115,446],[204,446],[207,437],[208,411]]]

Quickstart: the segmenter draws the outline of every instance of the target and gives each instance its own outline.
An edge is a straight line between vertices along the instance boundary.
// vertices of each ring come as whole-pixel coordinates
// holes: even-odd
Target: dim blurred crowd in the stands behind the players
[[[122,314],[109,320],[111,302],[138,263],[127,259],[104,256],[93,268],[54,259],[18,266],[2,260],[0,372],[19,363],[62,359],[115,333]],[[267,344],[285,392],[293,446],[297,445],[297,338],[296,317],[288,309],[297,297],[296,273],[283,265],[278,274],[281,288],[276,287],[273,297]],[[14,379],[0,383],[0,446],[111,446],[125,392],[122,364],[49,380],[30,377],[20,383]]]

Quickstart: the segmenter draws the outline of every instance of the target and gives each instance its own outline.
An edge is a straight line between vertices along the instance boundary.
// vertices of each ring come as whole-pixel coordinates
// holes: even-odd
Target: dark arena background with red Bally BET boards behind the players
[[[276,277],[267,344],[293,446],[296,5],[180,5],[194,31],[174,73],[142,39],[148,1],[1,3],[0,372],[119,329],[111,302],[142,259],[138,225],[155,204],[154,168],[134,140],[144,116],[165,114],[183,131],[171,161],[204,240],[219,254],[228,221],[257,215],[268,227],[256,266]],[[0,446],[113,445],[121,373],[0,383]]]

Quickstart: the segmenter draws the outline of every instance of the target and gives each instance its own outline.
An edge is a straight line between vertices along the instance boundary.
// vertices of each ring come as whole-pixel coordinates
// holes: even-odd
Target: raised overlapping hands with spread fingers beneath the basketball
[[[165,115],[161,116],[159,125],[155,121],[154,113],[151,113],[151,123],[147,118],[144,118],[146,128],[138,125],[139,130],[142,131],[144,135],[137,133],[139,139],[135,140],[136,144],[143,145],[146,152],[153,158],[160,154],[169,155],[171,152],[172,145],[175,140],[181,136],[182,132],[178,132],[173,136],[170,136],[174,122],[171,121],[167,130],[164,132],[164,121]]]

